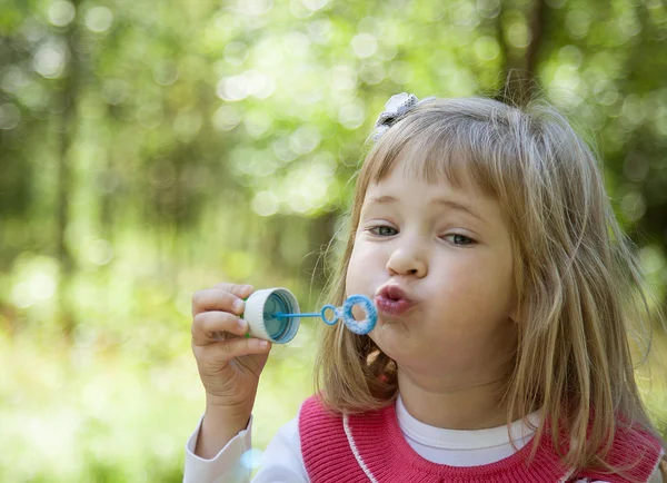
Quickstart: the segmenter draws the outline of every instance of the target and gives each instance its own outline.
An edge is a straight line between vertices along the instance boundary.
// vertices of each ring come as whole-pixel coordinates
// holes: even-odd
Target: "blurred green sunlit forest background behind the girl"
[[[3,0],[0,481],[180,481],[203,410],[192,293],[316,308],[397,92],[539,85],[597,144],[664,309],[666,79],[663,0]],[[272,352],[260,450],[311,392],[315,331]]]

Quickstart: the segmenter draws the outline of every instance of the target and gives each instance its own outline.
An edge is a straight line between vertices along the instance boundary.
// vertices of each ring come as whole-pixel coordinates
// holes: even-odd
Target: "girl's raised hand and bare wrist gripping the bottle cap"
[[[249,285],[219,284],[192,296],[192,352],[206,390],[205,423],[215,421],[229,438],[250,418],[271,349],[268,341],[245,337],[248,323],[239,315],[252,292]]]

